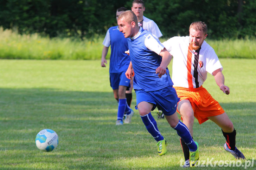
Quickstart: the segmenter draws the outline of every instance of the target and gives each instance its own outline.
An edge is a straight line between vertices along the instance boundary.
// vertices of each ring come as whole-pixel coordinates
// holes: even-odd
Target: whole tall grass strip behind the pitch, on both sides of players
[[[81,41],[78,38],[49,38],[38,34],[20,35],[0,28],[0,59],[101,59],[104,37]],[[167,39],[161,38],[164,42]],[[219,58],[256,59],[256,39],[208,40]],[[107,55],[109,59],[110,49]]]

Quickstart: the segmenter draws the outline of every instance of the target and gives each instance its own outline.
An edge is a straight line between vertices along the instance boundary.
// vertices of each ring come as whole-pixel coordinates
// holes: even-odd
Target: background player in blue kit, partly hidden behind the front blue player
[[[116,11],[117,17],[127,9],[124,7],[118,8]],[[123,124],[123,115],[126,114],[124,123],[130,123],[134,114],[126,102],[125,91],[130,87],[130,80],[127,79],[125,72],[130,63],[130,56],[124,51],[128,49],[127,40],[119,31],[118,26],[110,27],[103,41],[103,50],[101,56],[101,67],[106,67],[106,56],[108,48],[111,46],[109,77],[110,86],[113,89],[114,97],[118,101],[117,121],[116,125]]]

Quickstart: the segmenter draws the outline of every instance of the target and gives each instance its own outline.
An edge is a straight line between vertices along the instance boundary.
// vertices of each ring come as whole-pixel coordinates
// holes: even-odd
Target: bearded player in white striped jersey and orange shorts
[[[204,40],[207,36],[207,25],[196,21],[190,25],[190,36],[173,37],[162,43],[173,56],[173,87],[176,89],[180,102],[177,111],[183,123],[193,136],[194,117],[199,124],[210,119],[220,128],[226,143],[224,149],[237,159],[245,159],[242,152],[236,148],[236,130],[228,115],[220,104],[202,87],[207,72],[214,76],[220,90],[229,94],[228,86],[224,85],[223,67],[213,48]],[[187,147],[181,140],[185,157],[184,166],[189,166]]]

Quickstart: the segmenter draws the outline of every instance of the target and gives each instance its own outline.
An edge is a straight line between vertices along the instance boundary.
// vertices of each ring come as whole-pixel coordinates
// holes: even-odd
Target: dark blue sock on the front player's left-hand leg
[[[156,141],[164,140],[164,137],[159,132],[156,121],[151,113],[140,117],[142,119],[142,122],[145,124],[148,132],[155,138]]]

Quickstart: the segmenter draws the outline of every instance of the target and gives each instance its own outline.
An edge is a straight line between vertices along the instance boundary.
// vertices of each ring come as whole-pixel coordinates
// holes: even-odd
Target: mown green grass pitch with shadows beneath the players
[[[256,167],[256,60],[220,59],[230,95],[223,94],[213,76],[204,87],[231,118],[236,145]],[[158,156],[156,142],[147,132],[139,113],[131,124],[116,126],[117,102],[109,86],[107,68],[100,60],[0,60],[0,169],[183,169],[183,153],[176,131],[156,118],[168,141],[168,153]],[[171,64],[169,66],[171,68]],[[136,103],[133,93],[132,107]],[[53,129],[59,145],[41,152],[35,137]],[[235,161],[223,149],[225,138],[216,124],[194,123],[200,160]],[[214,169],[244,169],[239,167]],[[248,164],[247,164],[248,165]],[[222,165],[223,166],[223,165]],[[195,168],[199,169],[199,168]],[[202,168],[201,168],[202,169]],[[204,167],[203,169],[213,169]]]

